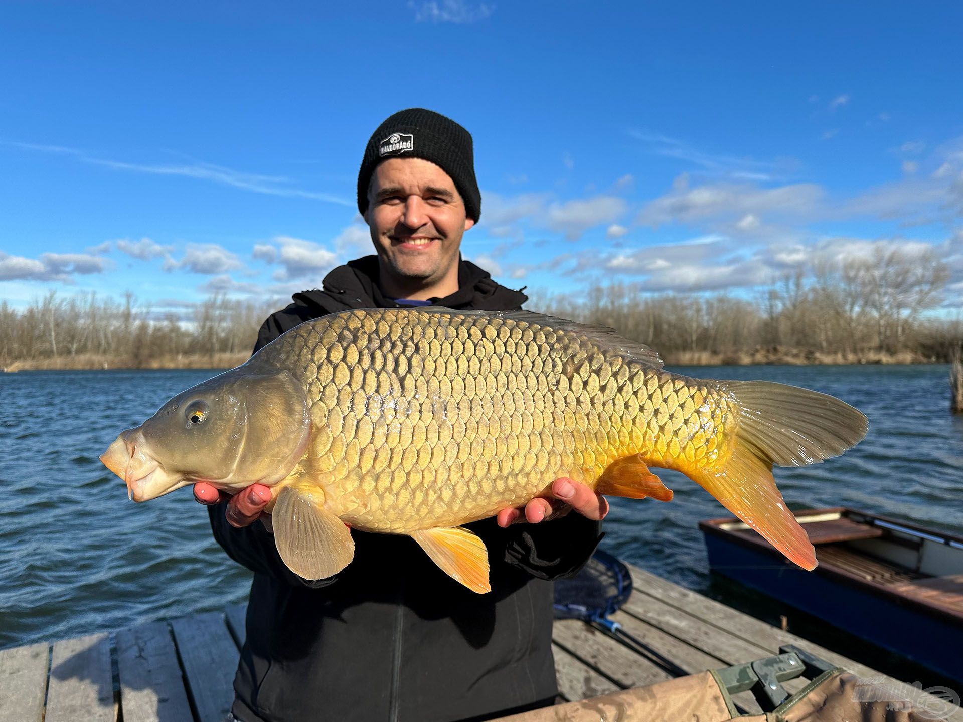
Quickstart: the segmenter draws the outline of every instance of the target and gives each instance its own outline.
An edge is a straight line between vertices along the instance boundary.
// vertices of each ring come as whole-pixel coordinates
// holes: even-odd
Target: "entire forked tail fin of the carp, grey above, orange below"
[[[804,569],[813,545],[786,507],[772,465],[802,466],[838,456],[866,436],[858,410],[835,397],[770,381],[720,381],[738,409],[733,449],[692,479],[772,546]]]

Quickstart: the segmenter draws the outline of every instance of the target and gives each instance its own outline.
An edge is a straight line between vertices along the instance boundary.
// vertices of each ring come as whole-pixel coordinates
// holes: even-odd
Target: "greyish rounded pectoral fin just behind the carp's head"
[[[271,521],[277,553],[299,577],[326,579],[354,557],[351,529],[325,509],[325,494],[320,489],[281,489]]]

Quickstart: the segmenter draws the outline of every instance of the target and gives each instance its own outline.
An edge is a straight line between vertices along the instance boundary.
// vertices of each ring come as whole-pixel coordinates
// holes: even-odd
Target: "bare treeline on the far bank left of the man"
[[[120,301],[51,292],[21,311],[4,301],[0,367],[219,366],[249,354],[261,322],[275,310],[276,303],[221,294],[181,314],[155,311],[129,292]],[[24,364],[37,361],[44,363]]]

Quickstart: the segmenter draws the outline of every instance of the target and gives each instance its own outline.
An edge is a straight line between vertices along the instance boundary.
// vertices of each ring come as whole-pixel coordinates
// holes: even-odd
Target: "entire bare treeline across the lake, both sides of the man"
[[[927,318],[949,278],[934,255],[882,250],[797,271],[751,299],[653,296],[634,284],[581,296],[534,294],[528,307],[612,326],[670,364],[948,361],[963,322]],[[209,297],[188,318],[121,301],[50,293],[26,309],[0,304],[0,368],[221,366],[240,363],[276,301]]]

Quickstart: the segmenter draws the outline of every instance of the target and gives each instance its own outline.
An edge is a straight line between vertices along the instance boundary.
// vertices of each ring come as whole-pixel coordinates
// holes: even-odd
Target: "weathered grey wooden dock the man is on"
[[[557,621],[553,641],[565,700],[771,657],[784,644],[795,644],[859,677],[885,679],[790,632],[637,567],[630,569],[635,590],[612,619],[654,654],[640,654],[586,622]],[[221,722],[234,698],[232,683],[243,639],[244,607],[234,606],[52,645],[3,650],[0,720]],[[678,669],[666,671],[660,657]],[[925,697],[919,688],[888,682],[906,699]],[[803,684],[794,680],[785,686],[792,692]],[[734,700],[745,711],[759,710],[748,692]],[[963,710],[954,709],[944,718],[963,722]]]

